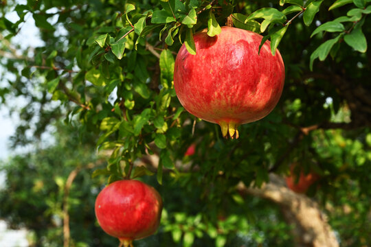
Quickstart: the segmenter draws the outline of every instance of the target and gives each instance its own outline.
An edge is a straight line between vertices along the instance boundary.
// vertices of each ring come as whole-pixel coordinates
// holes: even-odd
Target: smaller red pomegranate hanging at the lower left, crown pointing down
[[[119,180],[105,187],[95,200],[95,215],[107,234],[120,239],[120,246],[133,246],[134,239],[155,233],[162,199],[138,180]]]

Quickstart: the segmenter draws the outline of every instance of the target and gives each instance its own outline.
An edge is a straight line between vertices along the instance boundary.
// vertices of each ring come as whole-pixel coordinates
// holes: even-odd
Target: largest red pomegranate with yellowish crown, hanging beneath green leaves
[[[183,44],[175,60],[174,84],[179,101],[196,117],[219,124],[223,136],[238,138],[240,124],[257,121],[276,106],[284,85],[280,52],[269,41],[235,27],[210,37],[194,34],[196,55]]]

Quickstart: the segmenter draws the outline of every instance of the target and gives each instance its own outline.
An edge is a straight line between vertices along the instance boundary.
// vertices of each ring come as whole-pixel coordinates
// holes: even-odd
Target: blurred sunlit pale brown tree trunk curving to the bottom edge
[[[289,224],[297,247],[339,247],[339,243],[320,211],[317,202],[287,188],[284,180],[271,174],[271,181],[260,189],[238,184],[238,190],[279,204]]]

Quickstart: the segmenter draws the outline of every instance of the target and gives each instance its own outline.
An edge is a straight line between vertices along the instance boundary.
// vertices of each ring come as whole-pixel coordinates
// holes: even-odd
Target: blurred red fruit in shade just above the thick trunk
[[[318,174],[304,174],[304,172],[300,172],[299,179],[297,179],[297,175],[293,169],[293,166],[291,166],[291,175],[286,177],[286,185],[296,193],[306,193],[309,187],[319,179]]]

